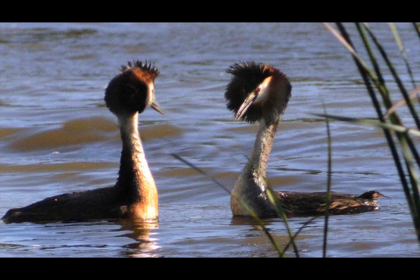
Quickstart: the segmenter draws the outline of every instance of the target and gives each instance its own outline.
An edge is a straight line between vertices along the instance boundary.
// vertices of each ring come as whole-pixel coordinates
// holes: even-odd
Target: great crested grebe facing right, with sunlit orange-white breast
[[[157,189],[144,155],[138,115],[146,107],[163,114],[155,101],[158,69],[135,60],[122,65],[105,90],[105,104],[117,116],[123,149],[115,186],[48,197],[22,208],[10,209],[6,222],[89,220],[106,218],[155,219]]]

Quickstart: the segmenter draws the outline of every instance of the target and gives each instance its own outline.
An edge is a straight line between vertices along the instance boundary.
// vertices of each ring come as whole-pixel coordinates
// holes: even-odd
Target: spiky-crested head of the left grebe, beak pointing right
[[[121,73],[115,76],[105,90],[105,104],[117,116],[142,113],[151,107],[163,114],[155,100],[155,79],[157,67],[134,60],[128,67],[121,65]]]

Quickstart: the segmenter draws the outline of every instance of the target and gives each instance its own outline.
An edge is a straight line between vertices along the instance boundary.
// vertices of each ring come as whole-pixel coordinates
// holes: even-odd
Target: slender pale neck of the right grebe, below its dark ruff
[[[266,123],[264,118],[260,120],[260,127],[258,128],[257,139],[255,139],[254,149],[252,150],[251,157],[242,174],[246,176],[263,176],[267,170],[268,157],[273,147],[274,136],[278,129],[280,120]]]

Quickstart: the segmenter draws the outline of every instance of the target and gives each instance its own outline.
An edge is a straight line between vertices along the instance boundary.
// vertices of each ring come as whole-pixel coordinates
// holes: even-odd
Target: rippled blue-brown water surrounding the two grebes
[[[397,27],[419,80],[418,37],[412,24]],[[388,25],[372,29],[411,88]],[[325,123],[309,114],[322,113],[322,102],[330,114],[375,117],[352,58],[321,24],[26,23],[1,24],[0,31],[1,216],[47,196],[115,183],[121,140],[103,94],[122,63],[138,58],[159,66],[156,97],[166,113],[146,110],[139,118],[160,195],[158,222],[2,221],[1,256],[276,256],[253,221],[232,219],[225,191],[170,156],[178,153],[233,186],[257,130],[234,122],[225,107],[225,69],[235,62],[269,63],[291,79],[268,165],[274,189],[325,190]],[[360,40],[354,43],[360,50]],[[392,80],[389,73],[385,79]],[[404,109],[399,114],[412,125]],[[378,212],[330,217],[327,255],[420,256],[383,133],[341,122],[331,122],[331,133],[333,191],[375,189],[392,198],[381,199]],[[289,222],[296,231],[307,220]],[[265,222],[284,246],[283,222]],[[320,217],[299,235],[301,256],[321,256],[322,238]]]

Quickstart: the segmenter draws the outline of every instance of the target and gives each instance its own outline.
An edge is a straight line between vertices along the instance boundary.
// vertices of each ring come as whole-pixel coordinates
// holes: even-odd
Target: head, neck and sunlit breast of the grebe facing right
[[[138,131],[138,115],[146,107],[163,114],[155,100],[155,78],[159,74],[151,63],[139,60],[121,66],[105,90],[105,103],[118,118],[123,149],[115,188],[126,197],[132,217],[155,218],[158,198]]]

